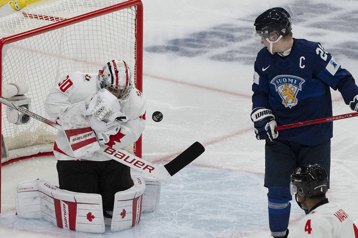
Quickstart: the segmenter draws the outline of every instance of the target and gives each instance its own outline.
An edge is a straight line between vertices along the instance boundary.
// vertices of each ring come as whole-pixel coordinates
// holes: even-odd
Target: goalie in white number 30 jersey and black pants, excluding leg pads
[[[116,59],[98,75],[67,75],[50,90],[45,111],[64,128],[53,149],[59,188],[100,194],[104,215],[111,217],[115,194],[133,182],[130,167],[97,153],[98,143],[126,148],[145,128],[146,99],[134,87],[129,66]]]

